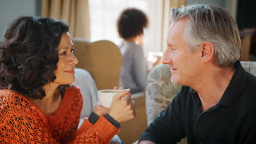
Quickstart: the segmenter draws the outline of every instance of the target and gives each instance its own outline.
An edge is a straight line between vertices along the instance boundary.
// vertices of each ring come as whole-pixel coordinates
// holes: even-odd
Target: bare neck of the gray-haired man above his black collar
[[[234,67],[219,68],[217,66],[207,69],[203,73],[199,85],[195,88],[192,87],[199,94],[202,111],[208,110],[219,102],[234,73]]]

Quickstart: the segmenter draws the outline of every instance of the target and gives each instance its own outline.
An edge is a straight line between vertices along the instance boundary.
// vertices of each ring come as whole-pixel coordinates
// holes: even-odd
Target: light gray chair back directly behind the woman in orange
[[[80,88],[83,95],[83,109],[81,111],[81,117],[79,122],[79,127],[82,125],[84,118],[89,117],[94,106],[98,101],[97,97],[97,87],[88,71],[80,68],[75,68],[75,85]],[[121,144],[121,140],[118,135],[115,135],[110,141],[110,144]]]

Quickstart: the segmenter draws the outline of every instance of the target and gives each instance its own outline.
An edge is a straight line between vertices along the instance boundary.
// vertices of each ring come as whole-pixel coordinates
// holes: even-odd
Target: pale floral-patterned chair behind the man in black
[[[256,75],[256,62],[241,62],[243,68]],[[146,89],[146,112],[148,125],[159,116],[159,112],[165,110],[168,104],[176,96],[181,86],[171,82],[171,71],[169,65],[156,65],[150,71]],[[187,143],[182,139],[181,143]]]

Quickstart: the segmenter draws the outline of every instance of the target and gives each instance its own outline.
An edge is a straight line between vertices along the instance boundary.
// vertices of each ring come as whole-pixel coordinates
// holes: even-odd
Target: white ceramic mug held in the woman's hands
[[[98,100],[101,105],[107,109],[110,108],[113,97],[118,94],[119,91],[122,90],[114,90],[114,89],[103,89],[98,91]]]

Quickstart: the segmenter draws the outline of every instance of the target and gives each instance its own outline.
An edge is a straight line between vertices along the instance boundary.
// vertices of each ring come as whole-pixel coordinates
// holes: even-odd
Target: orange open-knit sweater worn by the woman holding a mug
[[[106,118],[95,124],[78,123],[83,98],[80,89],[67,87],[53,116],[44,115],[31,99],[16,91],[0,90],[0,143],[109,143],[119,132]]]

